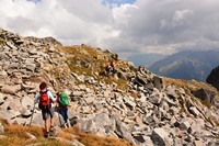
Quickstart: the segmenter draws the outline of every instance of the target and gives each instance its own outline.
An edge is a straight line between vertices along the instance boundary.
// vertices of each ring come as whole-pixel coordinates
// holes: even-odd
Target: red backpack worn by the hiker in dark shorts
[[[46,109],[50,109],[50,100],[47,93],[48,90],[45,91],[41,91],[39,92],[39,103],[38,103],[38,108],[41,110],[46,110]]]

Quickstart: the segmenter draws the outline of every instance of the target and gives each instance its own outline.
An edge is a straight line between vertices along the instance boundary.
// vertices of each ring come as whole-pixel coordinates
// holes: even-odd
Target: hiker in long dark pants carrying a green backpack
[[[68,97],[65,92],[57,92],[56,94],[56,101],[57,101],[57,104],[58,104],[58,112],[61,114],[62,119],[64,119],[64,126],[65,127],[70,127],[70,122],[68,120]]]

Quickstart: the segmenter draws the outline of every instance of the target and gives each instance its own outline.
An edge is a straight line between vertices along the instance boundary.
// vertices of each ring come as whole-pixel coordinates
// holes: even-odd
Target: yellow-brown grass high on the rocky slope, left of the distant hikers
[[[115,79],[114,77],[95,76],[94,74],[100,74],[105,70],[105,66],[114,60],[111,53],[105,53],[97,48],[87,46],[87,45],[76,45],[76,46],[62,46],[56,48],[58,52],[66,53],[65,63],[68,65],[72,72],[78,75],[84,75],[87,77],[94,77],[95,80],[105,83],[117,83],[117,89],[127,91],[127,81],[123,79]],[[115,60],[114,60],[115,61]],[[129,68],[126,61],[116,60],[116,69],[123,70],[123,68]],[[55,69],[56,70],[56,69]],[[60,77],[64,75],[58,75],[58,70],[55,71],[55,77]],[[77,82],[80,83],[80,82]]]

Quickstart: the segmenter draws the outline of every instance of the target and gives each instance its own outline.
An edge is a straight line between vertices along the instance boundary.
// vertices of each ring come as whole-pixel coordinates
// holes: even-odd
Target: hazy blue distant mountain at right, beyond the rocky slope
[[[150,65],[148,69],[170,78],[205,81],[218,65],[219,48],[180,52]]]

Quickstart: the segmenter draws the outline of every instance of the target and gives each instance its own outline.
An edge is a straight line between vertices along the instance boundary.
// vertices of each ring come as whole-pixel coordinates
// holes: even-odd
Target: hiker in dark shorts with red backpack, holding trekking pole
[[[56,99],[54,98],[53,93],[47,89],[46,82],[42,82],[39,85],[39,92],[35,97],[34,103],[36,104],[38,102],[38,108],[42,110],[42,116],[45,122],[45,137],[49,136],[49,132],[54,132],[54,102]],[[49,119],[50,117],[50,127],[48,126]]]

